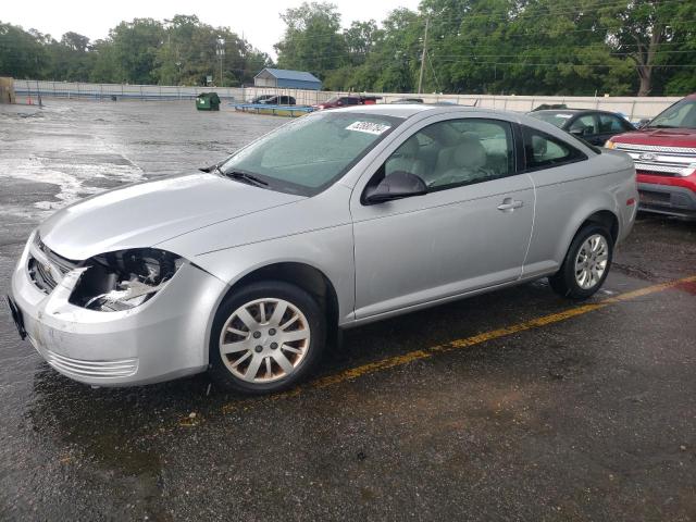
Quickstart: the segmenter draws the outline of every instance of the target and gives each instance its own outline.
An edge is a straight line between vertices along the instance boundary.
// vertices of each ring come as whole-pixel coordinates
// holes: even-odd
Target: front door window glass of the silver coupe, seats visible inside
[[[514,170],[511,124],[473,117],[428,125],[384,163],[384,175],[415,174],[432,189],[497,179]]]

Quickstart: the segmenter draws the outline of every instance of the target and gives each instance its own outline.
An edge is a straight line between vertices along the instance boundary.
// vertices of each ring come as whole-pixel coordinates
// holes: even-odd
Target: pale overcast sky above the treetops
[[[69,30],[104,38],[119,22],[133,18],[171,18],[175,14],[196,14],[213,26],[227,26],[258,49],[275,58],[273,44],[283,35],[278,13],[300,5],[302,0],[261,0],[204,2],[191,0],[34,0],[29,3],[3,2],[0,21],[48,33],[57,40]],[[333,0],[341,13],[344,26],[356,20],[382,22],[389,11],[405,7],[417,9],[420,0]]]

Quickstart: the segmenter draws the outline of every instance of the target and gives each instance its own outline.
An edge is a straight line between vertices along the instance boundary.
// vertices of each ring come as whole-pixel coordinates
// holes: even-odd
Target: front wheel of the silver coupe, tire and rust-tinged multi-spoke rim
[[[312,372],[325,347],[325,316],[303,289],[252,283],[221,303],[210,336],[213,381],[225,389],[266,394]]]

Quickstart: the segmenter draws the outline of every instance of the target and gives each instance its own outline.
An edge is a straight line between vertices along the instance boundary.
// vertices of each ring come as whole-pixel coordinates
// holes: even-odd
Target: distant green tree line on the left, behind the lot
[[[228,27],[202,24],[197,16],[122,22],[95,42],[77,33],[57,41],[0,23],[0,75],[17,78],[203,85],[211,75],[215,85],[235,86],[251,83],[270,63]]]

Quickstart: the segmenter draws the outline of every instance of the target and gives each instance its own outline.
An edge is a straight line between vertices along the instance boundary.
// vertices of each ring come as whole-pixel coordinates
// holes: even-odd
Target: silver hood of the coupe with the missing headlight
[[[188,174],[128,185],[57,212],[41,240],[72,260],[151,247],[188,232],[306,199],[216,174]]]

